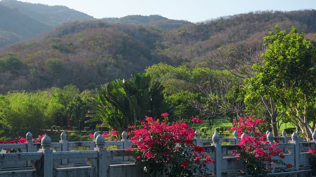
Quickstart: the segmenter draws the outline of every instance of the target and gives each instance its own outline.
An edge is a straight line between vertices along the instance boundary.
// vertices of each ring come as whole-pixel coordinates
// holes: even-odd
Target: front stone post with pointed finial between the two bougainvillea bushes
[[[222,147],[220,147],[219,140],[220,139],[219,139],[218,131],[215,130],[212,136],[212,141],[213,141],[212,146],[215,147],[215,176],[216,177],[222,176]]]

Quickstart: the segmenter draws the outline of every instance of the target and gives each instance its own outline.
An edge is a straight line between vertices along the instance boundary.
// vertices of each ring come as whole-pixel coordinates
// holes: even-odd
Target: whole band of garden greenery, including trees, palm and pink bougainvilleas
[[[111,140],[120,140],[121,132],[128,131],[136,145],[129,151],[148,173],[161,170],[153,165],[161,163],[168,166],[170,176],[189,176],[203,174],[205,163],[214,162],[192,143],[194,131],[210,138],[217,130],[222,138],[233,129],[240,135],[255,135],[243,139],[234,153],[252,169],[250,174],[265,174],[274,163],[282,163],[274,157],[283,155],[263,132],[277,137],[285,128],[291,134],[299,129],[304,139],[312,140],[316,43],[295,27],[287,32],[276,26],[261,44],[260,49],[219,48],[206,58],[210,67],[155,64],[144,73],[94,90],[67,85],[0,95],[1,142],[23,137],[27,131],[54,137],[65,130],[74,140],[89,140],[98,127]],[[51,68],[57,64],[57,60],[47,63]],[[7,65],[18,65],[14,56],[0,60],[0,66]]]

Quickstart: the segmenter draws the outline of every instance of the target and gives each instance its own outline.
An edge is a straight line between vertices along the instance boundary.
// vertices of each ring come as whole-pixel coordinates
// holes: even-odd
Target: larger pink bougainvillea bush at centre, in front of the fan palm
[[[191,139],[195,133],[186,123],[160,122],[146,117],[142,128],[132,133],[131,140],[136,147],[127,151],[134,154],[136,163],[151,176],[203,175],[208,170],[206,164],[214,162],[204,154],[203,147],[193,144]]]

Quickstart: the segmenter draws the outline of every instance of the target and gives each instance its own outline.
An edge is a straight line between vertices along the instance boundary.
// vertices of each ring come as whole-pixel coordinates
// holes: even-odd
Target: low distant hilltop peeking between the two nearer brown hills
[[[160,15],[129,15],[121,18],[103,18],[103,22],[108,23],[122,23],[122,24],[135,24],[135,25],[145,25],[158,29],[170,30],[173,28],[180,28],[183,25],[193,24],[185,20],[171,20]]]

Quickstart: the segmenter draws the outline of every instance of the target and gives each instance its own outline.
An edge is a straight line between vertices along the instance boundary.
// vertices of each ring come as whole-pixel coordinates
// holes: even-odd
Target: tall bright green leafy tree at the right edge
[[[246,80],[251,90],[263,99],[271,99],[274,109],[282,109],[293,118],[303,135],[311,140],[315,125],[316,103],[316,46],[292,27],[289,33],[279,31],[264,38],[267,50],[263,65],[254,65],[254,77]],[[272,105],[271,105],[272,106]]]

